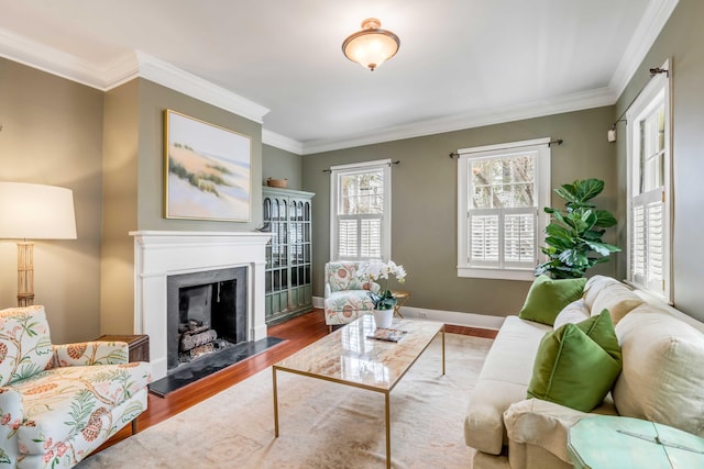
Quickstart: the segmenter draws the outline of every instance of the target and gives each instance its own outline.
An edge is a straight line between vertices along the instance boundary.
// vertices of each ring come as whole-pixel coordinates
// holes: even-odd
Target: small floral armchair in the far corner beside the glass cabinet
[[[360,265],[354,261],[326,264],[324,315],[330,330],[333,325],[350,323],[374,310],[369,291],[377,292],[380,286],[358,278]]]

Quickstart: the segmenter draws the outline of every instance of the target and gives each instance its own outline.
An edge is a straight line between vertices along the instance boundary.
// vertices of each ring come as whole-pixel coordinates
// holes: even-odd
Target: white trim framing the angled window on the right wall
[[[670,59],[667,59],[660,67],[669,70],[666,74],[654,75],[646,87],[636,97],[634,102],[626,112],[627,122],[627,139],[626,139],[626,161],[627,161],[627,249],[626,249],[626,282],[631,287],[646,292],[648,295],[673,304],[674,291],[672,282],[672,236],[673,236],[673,185],[672,185],[672,70],[670,68]],[[639,136],[636,123],[640,122],[644,114],[652,111],[658,105],[656,99],[662,93],[664,107],[664,155],[663,155],[663,291],[662,294],[649,289],[647,284],[635,281],[632,271],[632,249],[634,249],[634,187],[637,178],[640,176],[639,167],[635,165],[636,153],[640,146],[636,143]],[[642,194],[639,194],[642,196]]]

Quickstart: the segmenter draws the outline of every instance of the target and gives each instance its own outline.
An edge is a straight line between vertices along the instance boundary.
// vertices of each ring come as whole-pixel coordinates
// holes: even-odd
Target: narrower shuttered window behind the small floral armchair
[[[334,166],[330,190],[330,258],[391,256],[391,160]]]

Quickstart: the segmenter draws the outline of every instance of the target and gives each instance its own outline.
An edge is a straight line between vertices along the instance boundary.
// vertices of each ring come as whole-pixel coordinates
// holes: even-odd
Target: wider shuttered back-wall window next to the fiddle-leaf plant
[[[548,223],[550,139],[458,150],[458,276],[532,280]],[[542,236],[541,236],[542,237]]]

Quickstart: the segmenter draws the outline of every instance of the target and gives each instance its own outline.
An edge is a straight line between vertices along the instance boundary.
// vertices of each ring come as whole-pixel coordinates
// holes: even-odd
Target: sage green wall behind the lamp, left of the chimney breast
[[[100,331],[102,109],[101,91],[0,58],[0,180],[74,192],[77,239],[34,246],[34,302],[56,344]],[[0,309],[14,306],[15,242],[0,241]]]

